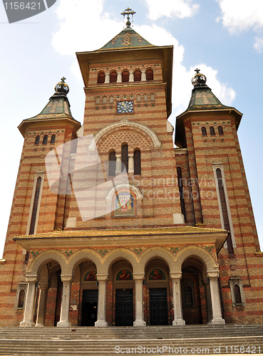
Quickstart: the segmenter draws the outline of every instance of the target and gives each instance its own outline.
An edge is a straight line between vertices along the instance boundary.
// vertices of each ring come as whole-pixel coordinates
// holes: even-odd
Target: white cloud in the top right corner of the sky
[[[230,33],[263,28],[262,0],[217,0],[222,12],[222,23]]]

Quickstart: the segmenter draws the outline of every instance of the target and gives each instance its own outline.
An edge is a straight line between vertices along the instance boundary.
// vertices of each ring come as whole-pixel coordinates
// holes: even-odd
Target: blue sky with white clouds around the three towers
[[[24,139],[17,126],[37,115],[66,77],[73,117],[83,123],[85,95],[76,52],[94,51],[122,31],[120,15],[136,12],[133,29],[155,46],[174,46],[175,126],[190,100],[195,68],[225,105],[243,113],[238,136],[263,249],[262,0],[57,0],[50,9],[9,24],[0,4],[0,258]]]

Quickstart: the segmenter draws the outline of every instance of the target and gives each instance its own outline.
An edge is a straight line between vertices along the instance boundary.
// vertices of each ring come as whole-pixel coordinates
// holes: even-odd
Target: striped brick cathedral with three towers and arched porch
[[[263,253],[237,129],[195,70],[174,127],[172,46],[130,27],[76,53],[24,137],[0,260],[0,326],[263,323]],[[209,80],[209,78],[208,78]]]

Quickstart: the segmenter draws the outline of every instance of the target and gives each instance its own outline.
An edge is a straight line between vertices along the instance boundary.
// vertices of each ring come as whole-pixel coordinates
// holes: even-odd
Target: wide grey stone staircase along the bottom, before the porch
[[[263,354],[263,325],[0,328],[0,355]]]

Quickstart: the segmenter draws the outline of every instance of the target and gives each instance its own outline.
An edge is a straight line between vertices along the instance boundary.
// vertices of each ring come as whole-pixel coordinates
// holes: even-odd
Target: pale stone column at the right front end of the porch
[[[225,320],[222,319],[220,294],[218,290],[217,278],[219,276],[218,271],[207,271],[207,277],[210,281],[210,293],[211,293],[211,305],[212,305],[212,320],[211,324],[225,324]]]

